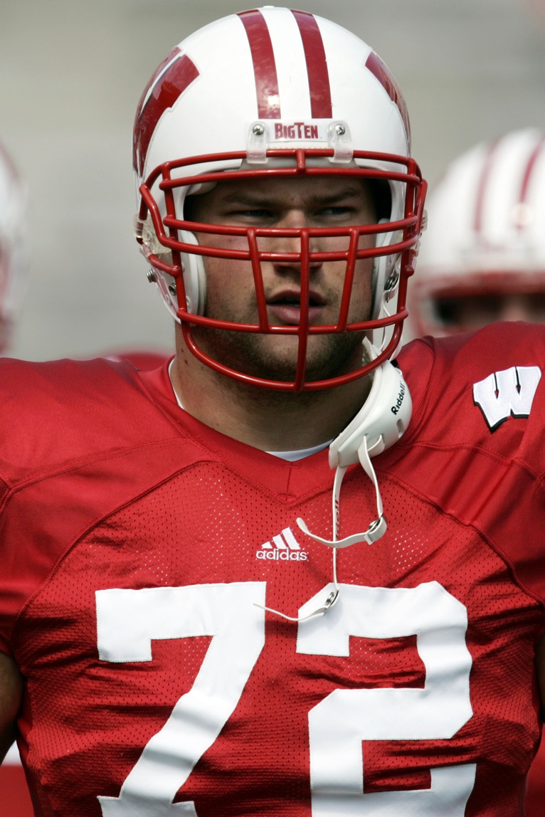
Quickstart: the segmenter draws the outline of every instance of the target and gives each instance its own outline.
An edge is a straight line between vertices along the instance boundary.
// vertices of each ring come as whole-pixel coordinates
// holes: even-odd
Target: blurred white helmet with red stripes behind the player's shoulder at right
[[[511,132],[456,158],[429,197],[409,299],[413,333],[446,335],[489,323],[494,299],[503,296],[533,297],[538,315],[545,304],[544,230],[543,132]]]

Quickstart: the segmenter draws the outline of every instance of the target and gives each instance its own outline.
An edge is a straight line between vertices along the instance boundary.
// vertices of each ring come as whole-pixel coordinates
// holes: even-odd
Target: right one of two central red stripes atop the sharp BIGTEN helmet
[[[310,89],[310,115],[313,119],[333,118],[328,63],[324,40],[315,17],[308,11],[292,11],[297,20],[305,51]]]

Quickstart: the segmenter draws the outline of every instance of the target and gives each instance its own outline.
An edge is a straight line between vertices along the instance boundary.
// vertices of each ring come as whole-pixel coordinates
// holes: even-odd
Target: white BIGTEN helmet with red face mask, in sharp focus
[[[181,42],[155,71],[145,88],[134,126],[134,168],[139,190],[136,239],[151,265],[185,342],[197,358],[230,377],[284,391],[305,391],[362,377],[390,357],[407,315],[405,292],[413,272],[426,183],[409,157],[409,117],[390,71],[354,34],[306,11],[264,7],[242,11],[205,26]],[[359,176],[386,190],[386,212],[376,225],[336,228],[346,236],[346,252],[320,253],[320,260],[373,257],[373,314],[348,323],[351,275],[346,275],[345,316],[337,324],[307,327],[302,303],[300,326],[271,326],[257,285],[259,323],[249,326],[213,320],[204,314],[206,275],[203,257],[252,261],[258,281],[262,235],[294,237],[300,252],[285,253],[301,265],[302,290],[309,277],[310,239],[333,234],[329,228],[252,230],[184,221],[189,194],[206,192],[232,178],[279,176]],[[248,249],[234,251],[197,243],[195,233],[245,235]],[[373,234],[376,246],[360,249],[360,235]],[[350,239],[350,248],[348,243]],[[270,253],[269,253],[270,255]],[[275,258],[279,253],[275,253]],[[398,293],[394,315],[387,302]],[[343,309],[341,310],[343,312]],[[306,311],[306,316],[308,312]],[[392,327],[386,348],[356,372],[323,381],[305,377],[299,355],[293,382],[249,377],[228,368],[199,348],[192,327],[206,325],[235,332],[285,333],[300,349],[312,333],[370,332]],[[303,325],[305,324],[305,325]]]

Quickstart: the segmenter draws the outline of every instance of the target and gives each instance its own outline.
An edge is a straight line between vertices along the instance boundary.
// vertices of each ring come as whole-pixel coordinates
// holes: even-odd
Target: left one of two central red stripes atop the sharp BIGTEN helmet
[[[246,29],[252,52],[253,73],[256,78],[257,116],[260,119],[279,119],[281,118],[280,95],[275,52],[265,18],[257,9],[241,11],[239,17]]]

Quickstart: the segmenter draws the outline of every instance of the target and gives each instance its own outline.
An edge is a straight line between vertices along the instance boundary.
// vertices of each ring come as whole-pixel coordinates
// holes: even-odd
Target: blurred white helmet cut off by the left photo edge
[[[0,145],[0,354],[7,348],[25,289],[25,191]]]

